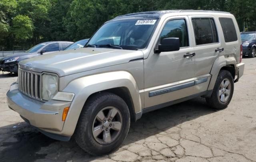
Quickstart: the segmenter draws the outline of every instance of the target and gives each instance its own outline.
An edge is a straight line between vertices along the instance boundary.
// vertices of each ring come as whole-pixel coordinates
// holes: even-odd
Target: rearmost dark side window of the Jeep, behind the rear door
[[[237,40],[236,28],[231,18],[219,18],[220,25],[224,34],[225,42],[234,42]]]

